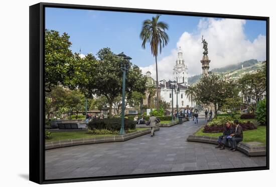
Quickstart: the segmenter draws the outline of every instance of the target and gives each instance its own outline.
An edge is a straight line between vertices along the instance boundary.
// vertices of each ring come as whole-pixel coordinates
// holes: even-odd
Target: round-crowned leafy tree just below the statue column
[[[229,77],[210,73],[208,77],[202,77],[196,84],[195,93],[195,99],[199,103],[214,104],[216,118],[217,111],[227,102],[227,99],[237,97],[238,87]]]

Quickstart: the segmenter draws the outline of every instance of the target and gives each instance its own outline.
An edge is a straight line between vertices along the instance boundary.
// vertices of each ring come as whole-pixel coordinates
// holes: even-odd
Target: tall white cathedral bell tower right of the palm
[[[181,47],[179,47],[176,65],[174,66],[174,69],[173,69],[173,75],[175,80],[178,83],[182,84],[183,86],[187,86],[188,85],[187,74],[188,74],[188,68],[187,68],[187,65],[185,65]]]

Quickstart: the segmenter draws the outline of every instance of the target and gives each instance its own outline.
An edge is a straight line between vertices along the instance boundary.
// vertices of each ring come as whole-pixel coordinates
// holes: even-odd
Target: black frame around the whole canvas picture
[[[166,172],[152,174],[129,174],[117,176],[102,177],[82,177],[68,179],[51,179],[45,180],[45,140],[44,140],[44,31],[45,31],[45,8],[68,8],[68,9],[84,9],[84,10],[100,10],[100,11],[119,11],[131,13],[151,13],[166,15],[184,15],[195,17],[209,18],[230,18],[230,19],[247,19],[266,21],[266,61],[267,61],[267,130],[266,130],[266,166],[261,167],[244,167],[231,169],[213,169],[199,171],[181,171]],[[52,4],[39,3],[30,6],[30,180],[40,184],[61,183],[61,182],[77,182],[77,181],[93,181],[93,180],[109,180],[109,179],[125,179],[125,178],[142,178],[156,176],[186,175],[186,174],[202,174],[202,173],[219,173],[233,171],[249,171],[269,169],[269,17],[242,16],[242,15],[225,15],[210,13],[194,13],[164,10],[147,10],[147,9],[130,9],[116,7],[99,7],[86,5],[69,5],[69,4]]]

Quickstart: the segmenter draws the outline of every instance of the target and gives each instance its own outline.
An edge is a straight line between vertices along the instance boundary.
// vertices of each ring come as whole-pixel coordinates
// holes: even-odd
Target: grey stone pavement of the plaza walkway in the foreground
[[[141,174],[170,171],[265,166],[266,157],[248,157],[214,144],[188,142],[199,123],[161,128],[124,142],[99,143],[45,151],[45,178],[74,178],[104,175]]]

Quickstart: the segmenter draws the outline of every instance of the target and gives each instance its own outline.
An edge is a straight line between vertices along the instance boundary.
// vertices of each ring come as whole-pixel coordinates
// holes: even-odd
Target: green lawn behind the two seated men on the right
[[[202,127],[199,131],[195,133],[197,136],[215,136],[218,137],[222,133],[204,133]],[[258,126],[254,130],[243,131],[243,142],[257,141],[262,144],[266,144],[266,126]]]

